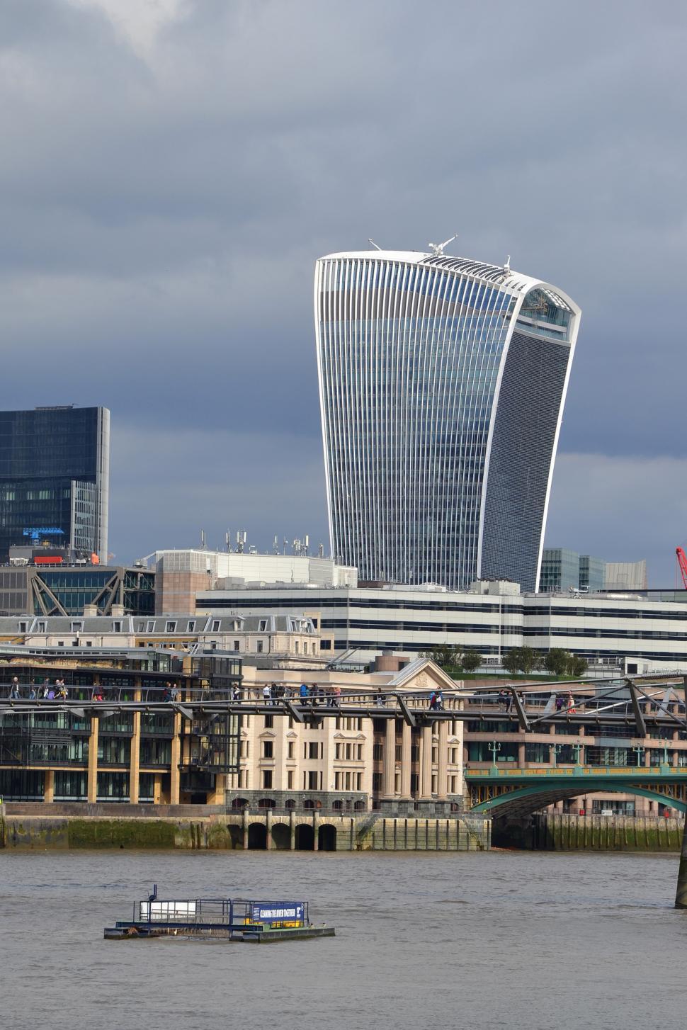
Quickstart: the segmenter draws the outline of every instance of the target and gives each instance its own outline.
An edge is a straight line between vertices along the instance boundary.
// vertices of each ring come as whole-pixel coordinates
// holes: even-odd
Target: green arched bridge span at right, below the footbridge
[[[580,794],[637,794],[687,813],[687,767],[573,765],[549,768],[466,769],[471,811],[524,816]]]

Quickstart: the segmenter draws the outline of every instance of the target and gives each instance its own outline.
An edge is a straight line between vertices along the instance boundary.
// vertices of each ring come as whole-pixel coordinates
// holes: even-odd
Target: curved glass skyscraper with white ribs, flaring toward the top
[[[537,589],[579,320],[561,290],[508,265],[321,258],[332,554],[362,581]]]

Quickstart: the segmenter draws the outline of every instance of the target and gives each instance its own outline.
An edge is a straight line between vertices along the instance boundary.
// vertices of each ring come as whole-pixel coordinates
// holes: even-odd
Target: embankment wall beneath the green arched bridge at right
[[[546,851],[680,851],[682,819],[661,816],[577,816],[536,819],[535,844]]]

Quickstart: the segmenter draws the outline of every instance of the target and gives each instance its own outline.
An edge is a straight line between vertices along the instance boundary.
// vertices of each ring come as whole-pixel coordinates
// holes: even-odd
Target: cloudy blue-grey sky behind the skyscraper
[[[3,0],[3,408],[111,410],[110,549],[329,550],[316,258],[447,248],[582,322],[546,542],[687,543],[683,0]]]

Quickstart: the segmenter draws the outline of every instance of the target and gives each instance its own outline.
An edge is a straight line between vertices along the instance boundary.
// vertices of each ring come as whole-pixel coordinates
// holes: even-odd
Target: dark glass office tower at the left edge
[[[0,411],[0,562],[32,535],[107,561],[107,408]]]

